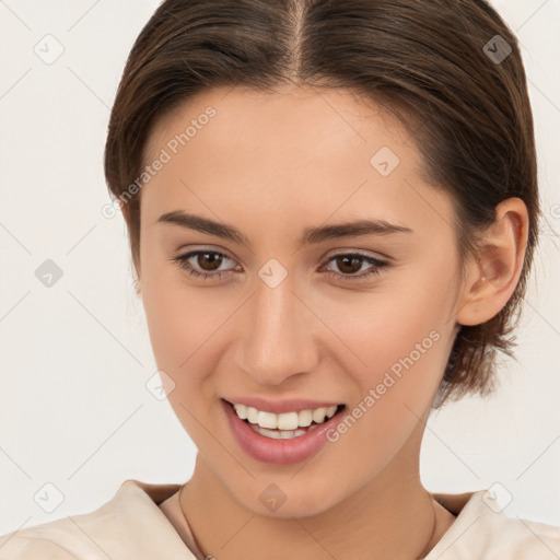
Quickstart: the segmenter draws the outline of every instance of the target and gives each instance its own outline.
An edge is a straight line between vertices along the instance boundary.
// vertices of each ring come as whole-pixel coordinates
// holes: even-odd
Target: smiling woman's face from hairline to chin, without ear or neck
[[[200,464],[241,504],[278,516],[413,469],[460,292],[452,200],[421,180],[413,139],[341,90],[213,90],[158,122],[155,159],[141,190],[141,296]],[[171,212],[221,234],[161,219]],[[395,228],[337,229],[362,221]],[[345,409],[299,443],[312,432],[257,434],[232,423],[224,399]],[[276,513],[261,501],[270,483],[288,498]]]

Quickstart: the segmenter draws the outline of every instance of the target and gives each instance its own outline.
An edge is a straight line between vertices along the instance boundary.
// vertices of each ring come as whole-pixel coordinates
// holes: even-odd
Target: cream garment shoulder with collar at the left
[[[0,536],[0,560],[143,560],[190,558],[158,508],[177,485],[126,480],[108,502],[91,513],[68,515]]]

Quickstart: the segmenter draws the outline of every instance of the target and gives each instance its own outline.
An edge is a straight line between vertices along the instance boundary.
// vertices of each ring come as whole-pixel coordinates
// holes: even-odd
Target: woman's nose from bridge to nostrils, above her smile
[[[259,385],[280,385],[317,365],[320,320],[294,288],[290,275],[275,288],[258,279],[245,304],[237,366]]]

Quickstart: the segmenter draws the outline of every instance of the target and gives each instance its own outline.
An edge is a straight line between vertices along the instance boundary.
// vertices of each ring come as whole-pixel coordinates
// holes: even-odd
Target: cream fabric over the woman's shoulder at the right
[[[445,504],[445,494],[441,503]],[[463,494],[466,495],[466,494]],[[560,528],[509,517],[486,490],[472,492],[425,560],[558,560]]]

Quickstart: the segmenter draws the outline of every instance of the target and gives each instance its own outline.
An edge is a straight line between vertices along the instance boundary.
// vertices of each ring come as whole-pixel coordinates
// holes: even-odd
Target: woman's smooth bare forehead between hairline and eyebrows
[[[141,192],[150,222],[183,209],[241,224],[248,207],[279,225],[368,210],[418,222],[421,206],[428,220],[450,213],[420,178],[422,156],[396,117],[345,90],[205,92],[156,124],[144,163],[163,152],[167,162]]]

